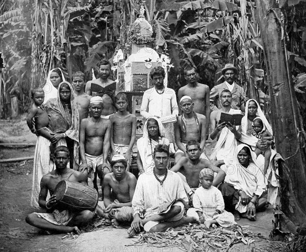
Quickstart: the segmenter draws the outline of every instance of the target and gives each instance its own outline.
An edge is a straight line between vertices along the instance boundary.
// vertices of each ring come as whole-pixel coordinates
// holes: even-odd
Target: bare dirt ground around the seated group
[[[35,143],[36,136],[27,128],[25,121],[0,121],[0,143]],[[207,154],[214,143],[208,142]],[[1,146],[0,159],[34,156],[34,146],[17,148]],[[77,239],[65,234],[48,235],[25,222],[27,214],[34,212],[30,207],[33,160],[0,163],[0,251],[181,251],[180,247],[127,246],[136,238],[127,238],[126,227],[114,229],[110,226],[81,234]],[[241,226],[268,238],[272,229],[273,213],[268,209],[257,215],[258,220],[243,219]],[[267,243],[267,241],[262,241]],[[253,251],[243,243],[236,244],[230,251]],[[269,251],[269,250],[262,250]]]

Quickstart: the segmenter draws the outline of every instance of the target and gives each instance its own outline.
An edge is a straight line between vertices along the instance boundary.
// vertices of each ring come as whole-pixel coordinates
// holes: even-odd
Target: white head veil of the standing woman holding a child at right
[[[258,142],[258,138],[247,134],[247,126],[248,126],[247,116],[248,116],[248,106],[249,106],[250,102],[254,102],[254,103],[257,104],[256,115],[257,115],[257,117],[260,117],[260,119],[262,119],[265,128],[271,133],[272,136],[273,136],[273,131],[272,131],[271,125],[269,124],[267,118],[265,117],[263,111],[261,110],[258,102],[254,99],[247,100],[247,102],[245,104],[245,115],[241,120],[241,138],[239,140],[241,142],[249,144],[251,146],[256,146],[256,144]]]

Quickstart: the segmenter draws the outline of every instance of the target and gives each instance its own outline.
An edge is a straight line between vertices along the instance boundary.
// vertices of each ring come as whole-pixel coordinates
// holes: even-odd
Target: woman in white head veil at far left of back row
[[[49,71],[46,84],[43,87],[45,93],[44,104],[50,98],[57,97],[57,90],[61,82],[65,81],[61,68],[54,68]]]

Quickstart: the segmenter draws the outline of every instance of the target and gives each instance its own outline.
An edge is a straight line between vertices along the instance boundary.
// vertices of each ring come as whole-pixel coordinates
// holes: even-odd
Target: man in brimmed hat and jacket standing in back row
[[[224,82],[216,85],[210,91],[210,107],[215,111],[221,109],[221,92],[224,89],[230,90],[232,93],[232,109],[240,109],[244,111],[244,103],[246,102],[245,92],[242,87],[235,82],[238,69],[233,64],[226,64],[222,69]]]

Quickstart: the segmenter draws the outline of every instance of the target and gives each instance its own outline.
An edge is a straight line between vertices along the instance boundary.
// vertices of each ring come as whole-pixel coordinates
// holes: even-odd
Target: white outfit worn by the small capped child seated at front
[[[187,216],[198,218],[196,211],[202,212],[205,220],[215,219],[220,226],[228,227],[236,224],[232,213],[224,210],[224,200],[221,192],[214,186],[209,189],[199,187],[195,190],[192,203],[194,208],[187,211]],[[215,214],[215,211],[221,211],[221,214]]]

